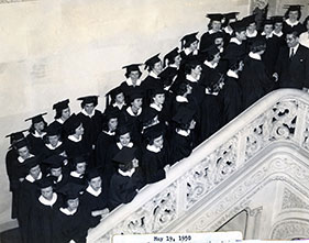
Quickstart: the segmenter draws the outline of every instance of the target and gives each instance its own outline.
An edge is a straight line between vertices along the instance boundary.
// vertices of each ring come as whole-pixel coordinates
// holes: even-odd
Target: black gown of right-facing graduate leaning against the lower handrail
[[[144,178],[139,168],[130,176],[123,176],[117,172],[112,178],[109,190],[109,208],[113,210],[121,203],[129,203],[137,194],[137,189],[144,186]]]

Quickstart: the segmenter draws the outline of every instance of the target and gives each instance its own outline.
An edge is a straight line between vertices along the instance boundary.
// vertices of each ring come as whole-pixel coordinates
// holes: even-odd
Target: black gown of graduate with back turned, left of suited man
[[[273,87],[273,80],[266,73],[262,60],[246,57],[240,77],[243,110],[249,108]]]

